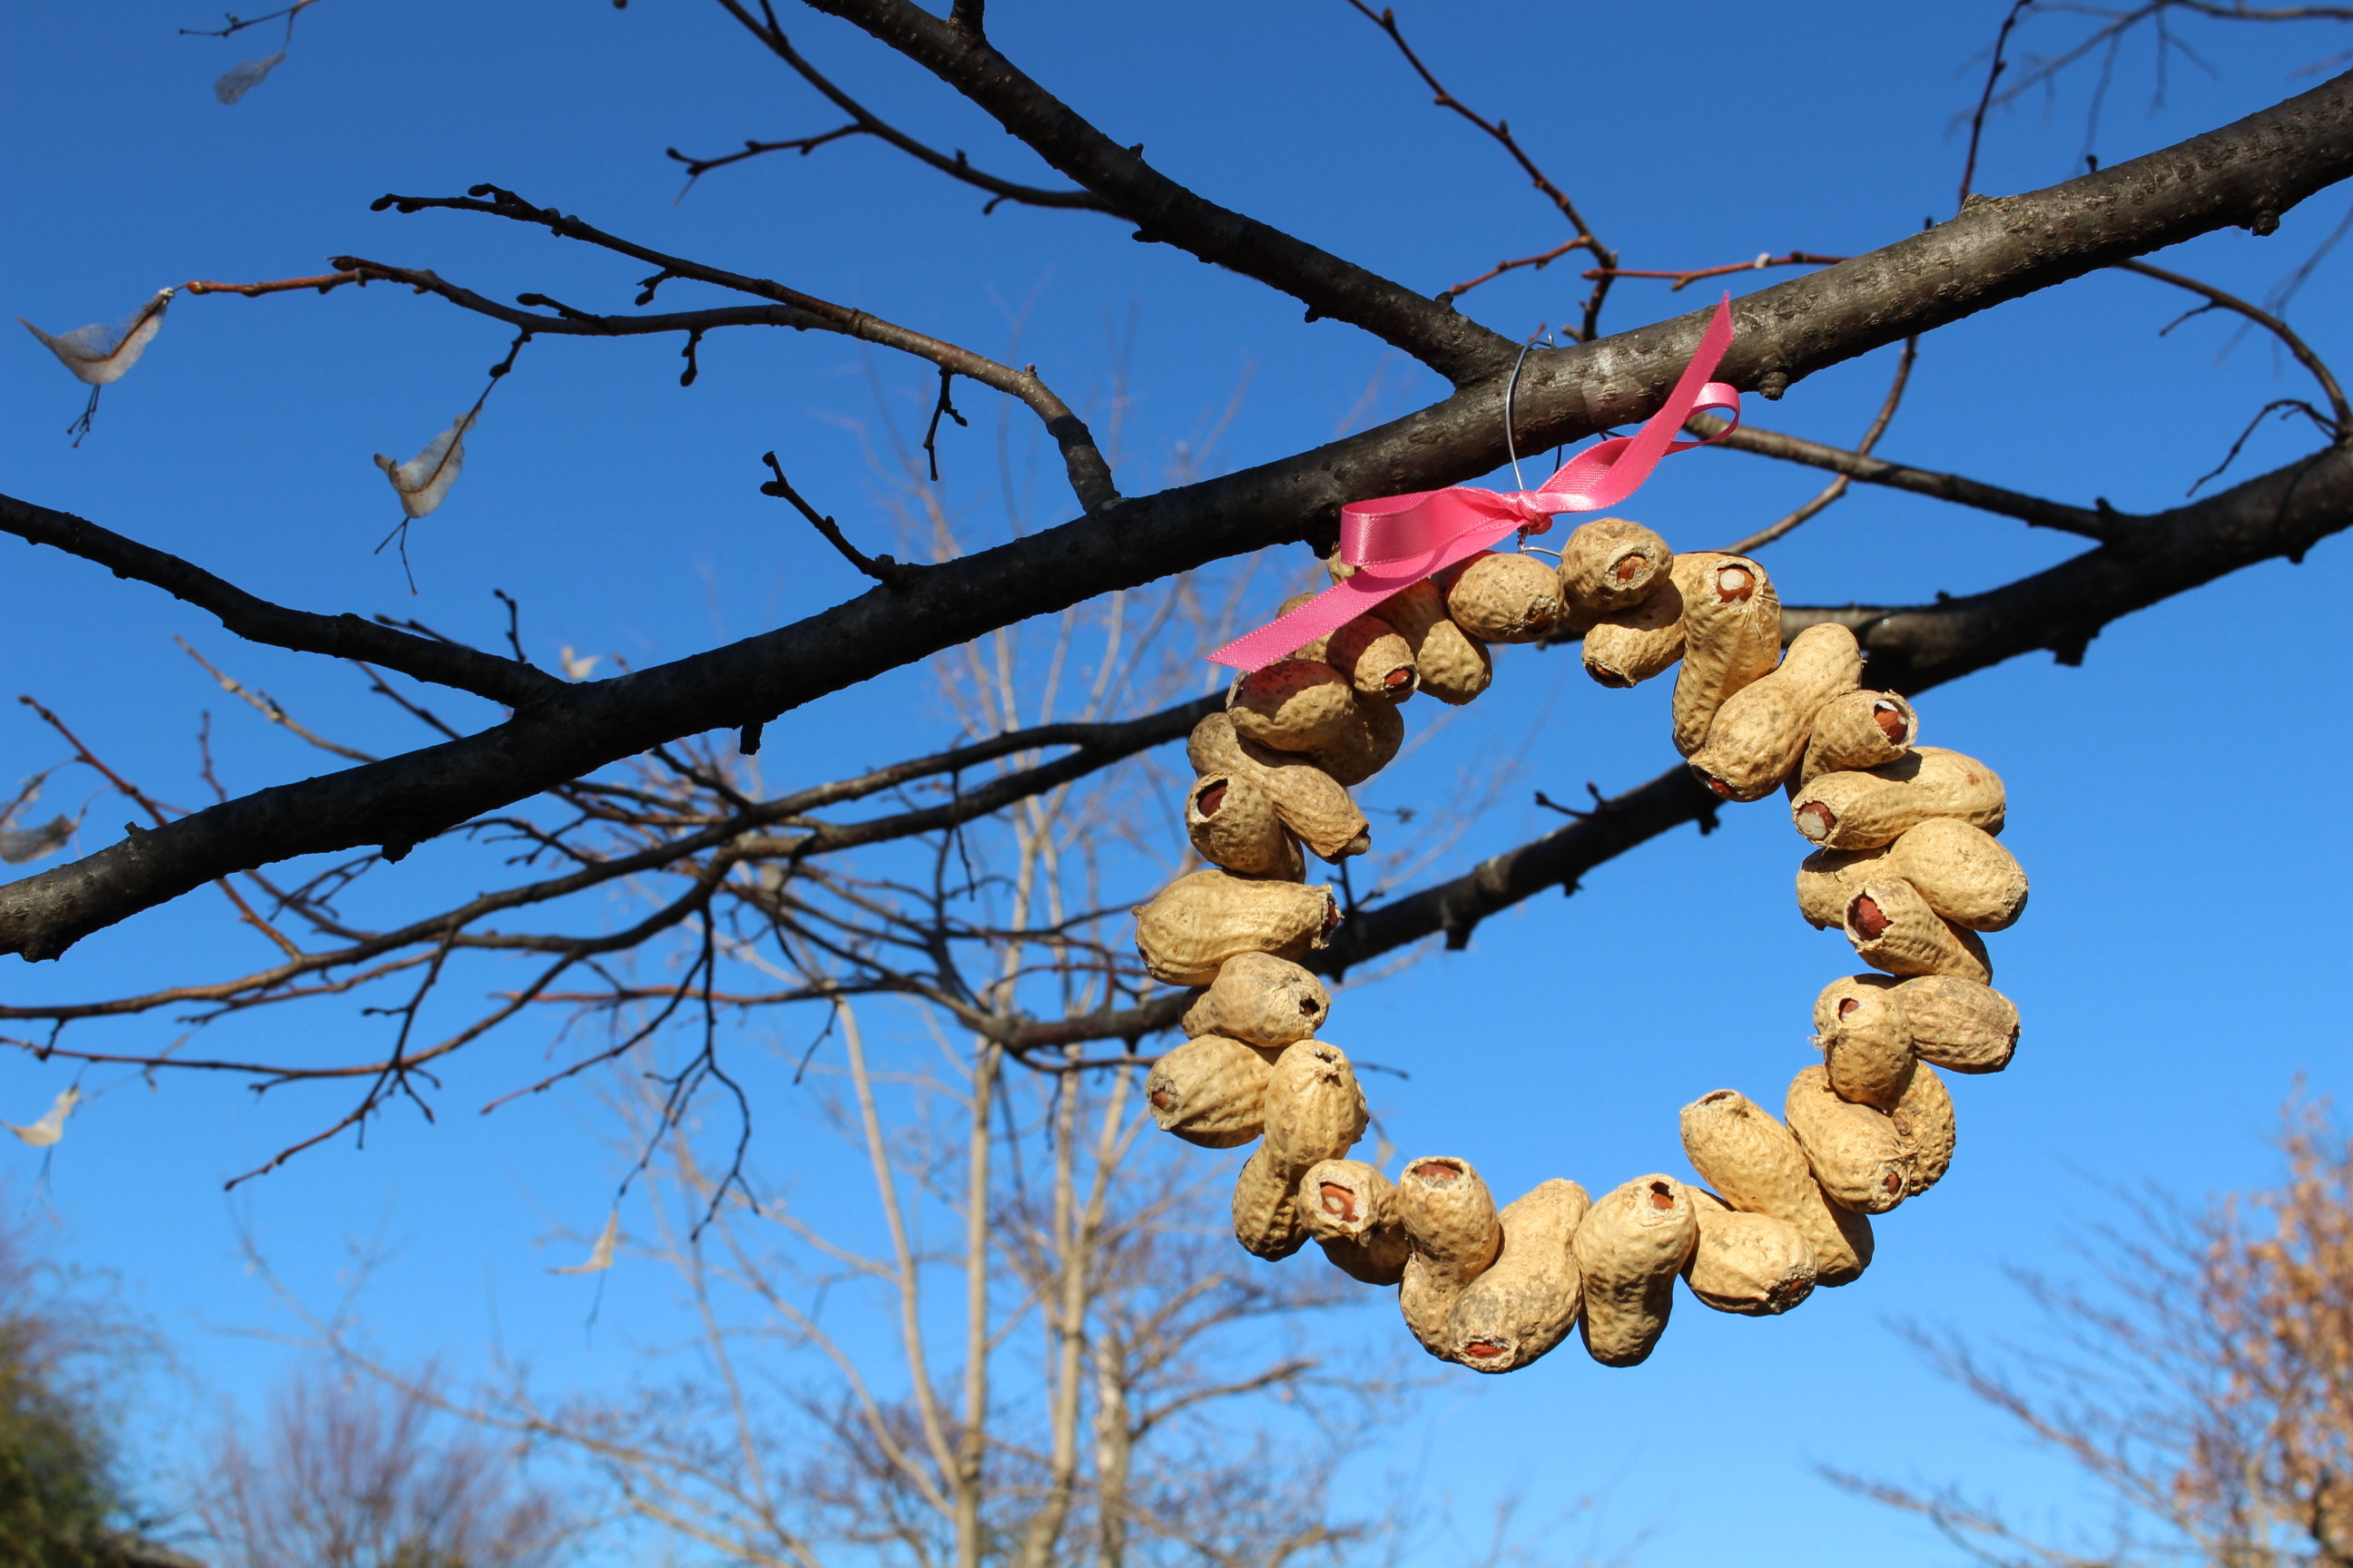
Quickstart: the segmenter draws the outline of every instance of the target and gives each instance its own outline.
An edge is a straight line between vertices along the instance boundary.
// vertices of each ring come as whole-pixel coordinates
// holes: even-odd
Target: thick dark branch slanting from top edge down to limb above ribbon
[[[976,28],[906,0],[809,0],[842,16],[972,99],[1064,176],[1092,190],[1106,212],[1136,226],[1136,240],[1174,244],[1202,261],[1282,289],[1308,320],[1362,327],[1457,386],[1508,367],[1518,343],[1452,306],[1369,273],[1257,219],[1219,207],[1144,162],[1078,110],[1031,80]],[[729,5],[741,14],[741,7]],[[767,31],[746,16],[746,26]]]

